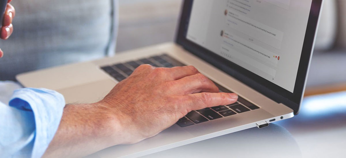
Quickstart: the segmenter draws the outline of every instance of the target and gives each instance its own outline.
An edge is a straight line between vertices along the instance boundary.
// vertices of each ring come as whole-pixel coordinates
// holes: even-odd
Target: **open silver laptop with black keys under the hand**
[[[22,73],[25,87],[62,93],[66,103],[101,100],[141,64],[193,65],[236,103],[191,111],[160,134],[97,157],[139,157],[297,115],[322,0],[185,0],[175,42],[109,58]]]

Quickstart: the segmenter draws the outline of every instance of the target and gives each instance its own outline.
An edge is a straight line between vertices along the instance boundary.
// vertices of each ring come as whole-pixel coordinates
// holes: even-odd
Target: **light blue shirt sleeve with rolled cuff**
[[[64,97],[42,88],[13,92],[16,88],[0,82],[0,157],[42,157],[60,124]],[[7,98],[9,91],[13,94]]]

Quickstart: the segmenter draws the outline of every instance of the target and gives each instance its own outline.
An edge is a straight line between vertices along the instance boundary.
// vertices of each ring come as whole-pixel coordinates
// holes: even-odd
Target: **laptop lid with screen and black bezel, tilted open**
[[[185,0],[176,42],[298,114],[322,0]]]

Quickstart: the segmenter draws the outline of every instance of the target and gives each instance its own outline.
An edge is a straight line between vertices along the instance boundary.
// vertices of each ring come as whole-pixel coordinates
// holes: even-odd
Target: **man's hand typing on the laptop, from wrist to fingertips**
[[[111,113],[126,144],[155,136],[191,110],[230,105],[234,93],[217,86],[193,66],[155,68],[141,65],[99,103]]]

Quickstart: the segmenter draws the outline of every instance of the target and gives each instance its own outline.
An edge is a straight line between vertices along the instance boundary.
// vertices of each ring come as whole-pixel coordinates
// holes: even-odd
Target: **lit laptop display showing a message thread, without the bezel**
[[[186,39],[293,93],[312,0],[195,0]]]

